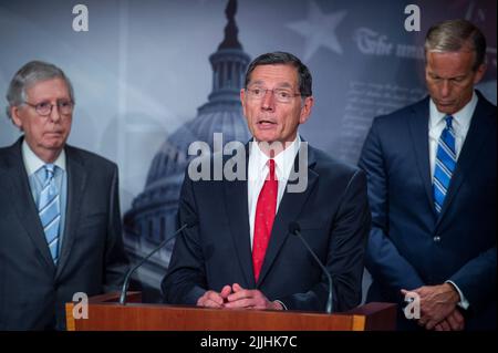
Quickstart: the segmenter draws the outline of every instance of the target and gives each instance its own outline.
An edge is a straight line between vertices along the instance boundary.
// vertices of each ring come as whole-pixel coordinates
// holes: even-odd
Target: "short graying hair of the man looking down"
[[[433,25],[425,37],[425,52],[458,52],[469,50],[476,53],[473,70],[486,62],[486,38],[471,22],[447,20]]]

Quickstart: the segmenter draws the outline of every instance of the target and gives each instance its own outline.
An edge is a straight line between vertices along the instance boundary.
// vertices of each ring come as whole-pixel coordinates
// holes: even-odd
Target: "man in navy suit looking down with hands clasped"
[[[400,329],[492,329],[496,106],[474,90],[486,40],[468,21],[445,21],[425,55],[429,97],[376,117],[360,158],[373,219],[367,301],[414,298],[419,319],[400,311]]]

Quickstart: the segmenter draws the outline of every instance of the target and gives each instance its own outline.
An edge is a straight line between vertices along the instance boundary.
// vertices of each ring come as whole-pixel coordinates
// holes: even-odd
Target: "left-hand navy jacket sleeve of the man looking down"
[[[390,132],[393,133],[393,132]],[[359,166],[365,170],[369,185],[369,200],[372,209],[372,230],[366,247],[366,268],[374,281],[392,289],[412,290],[424,285],[412,264],[400,255],[388,236],[388,175],[385,169],[380,128],[374,121],[366,136]]]

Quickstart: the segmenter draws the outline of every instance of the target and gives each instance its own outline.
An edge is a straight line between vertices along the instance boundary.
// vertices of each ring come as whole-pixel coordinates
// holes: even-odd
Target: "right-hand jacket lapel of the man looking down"
[[[436,228],[439,226],[443,217],[449,208],[449,205],[458,194],[458,189],[460,188],[461,183],[464,183],[466,175],[474,169],[474,164],[477,159],[479,159],[476,158],[476,156],[479,156],[485,141],[487,141],[489,138],[489,134],[491,134],[492,129],[488,128],[488,126],[490,125],[490,118],[496,118],[496,116],[494,116],[496,111],[495,108],[487,111],[483,100],[484,97],[479,96],[464,146],[461,147],[457,165],[452,176],[452,181],[449,184],[448,193],[446,194],[443,209],[440,210],[437,219]]]

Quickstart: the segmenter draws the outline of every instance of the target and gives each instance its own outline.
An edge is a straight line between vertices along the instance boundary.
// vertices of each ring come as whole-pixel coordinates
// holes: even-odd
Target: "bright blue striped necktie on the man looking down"
[[[453,116],[446,115],[445,121],[446,127],[443,129],[437,144],[436,166],[434,168],[433,180],[434,207],[436,208],[437,214],[439,214],[443,208],[449,188],[449,181],[452,180],[452,175],[456,166],[455,133],[452,126]]]

